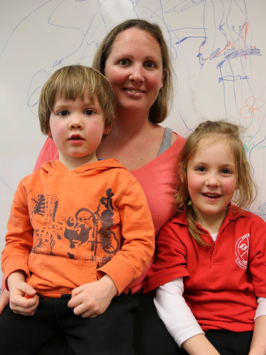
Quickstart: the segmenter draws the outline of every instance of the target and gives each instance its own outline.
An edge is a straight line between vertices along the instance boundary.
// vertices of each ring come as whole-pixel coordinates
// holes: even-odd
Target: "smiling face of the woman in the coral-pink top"
[[[148,32],[134,27],[119,33],[104,74],[115,91],[118,112],[148,115],[164,77],[159,43]]]

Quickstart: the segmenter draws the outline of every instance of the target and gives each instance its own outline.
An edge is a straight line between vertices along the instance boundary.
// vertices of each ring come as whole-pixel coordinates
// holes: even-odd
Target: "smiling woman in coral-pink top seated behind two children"
[[[167,117],[173,92],[170,56],[160,27],[139,19],[122,22],[100,44],[93,67],[107,77],[117,99],[113,130],[97,149],[97,157],[117,159],[139,180],[157,236],[174,215],[175,166],[184,144],[183,137],[159,125]],[[35,169],[57,158],[54,143],[48,138]],[[155,257],[150,265],[154,261]],[[178,347],[156,313],[153,296],[142,293],[146,272],[131,285],[140,303],[134,320],[135,351],[138,355],[176,354]],[[4,291],[0,311],[8,299]],[[17,305],[18,312],[22,308]],[[43,349],[41,354],[51,354],[57,345],[50,344],[50,350]]]

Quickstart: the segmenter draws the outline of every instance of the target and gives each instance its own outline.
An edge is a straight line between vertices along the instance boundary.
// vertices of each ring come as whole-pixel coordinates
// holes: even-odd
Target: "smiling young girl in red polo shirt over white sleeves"
[[[180,161],[178,214],[159,233],[145,291],[156,289],[180,354],[266,354],[266,223],[242,209],[256,186],[239,127],[201,123]]]

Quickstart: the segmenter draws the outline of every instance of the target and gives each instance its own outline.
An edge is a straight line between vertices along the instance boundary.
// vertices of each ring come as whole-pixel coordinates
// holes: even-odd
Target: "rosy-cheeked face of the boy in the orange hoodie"
[[[97,98],[65,100],[55,97],[49,120],[49,135],[59,151],[59,160],[68,169],[97,160],[95,151],[106,134],[105,119]]]

